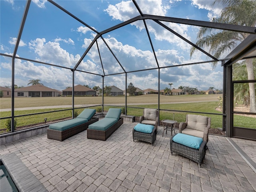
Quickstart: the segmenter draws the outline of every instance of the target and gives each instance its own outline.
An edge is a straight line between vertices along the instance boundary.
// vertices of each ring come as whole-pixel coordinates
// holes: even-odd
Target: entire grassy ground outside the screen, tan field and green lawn
[[[186,112],[170,112],[164,110],[183,110],[183,111],[196,111],[196,112],[208,112],[220,114],[221,112],[215,110],[218,107],[218,96],[220,95],[184,95],[184,96],[160,96],[160,120],[163,119],[173,119],[178,122],[184,122],[186,119]],[[4,98],[6,102],[10,102]],[[128,102],[128,115],[133,115],[139,117],[142,115],[143,109],[132,108],[158,108],[158,96],[157,95],[144,95],[144,96],[130,96],[127,98]],[[215,101],[214,101],[215,100]],[[200,102],[196,102],[200,101]],[[204,101],[204,102],[203,102]],[[2,109],[2,98],[1,98],[1,109]],[[57,97],[57,98],[17,98],[15,104],[16,108],[30,107],[30,106],[58,106],[58,105],[69,105],[72,102],[71,97]],[[177,103],[177,102],[188,102],[188,103]],[[189,103],[190,102],[190,103]],[[76,97],[75,104],[101,104],[102,97]],[[105,104],[123,104],[125,103],[124,97],[104,97]],[[138,103],[138,105],[129,105]],[[151,104],[152,103],[152,104]],[[5,105],[6,108],[8,105]],[[129,108],[129,106],[131,108]],[[94,107],[95,108],[95,107]],[[110,106],[105,106],[104,110],[108,110]],[[15,116],[22,114],[33,114],[39,112],[49,112],[62,110],[64,108],[51,108],[51,109],[38,109],[38,110],[16,110]],[[82,112],[83,109],[76,109],[78,113]],[[189,113],[192,114],[192,113]],[[0,112],[1,117],[7,117],[11,115],[11,112]],[[204,115],[204,114],[202,114]],[[58,120],[62,118],[70,118],[72,116],[72,110],[66,110],[61,112],[50,112],[46,114],[37,114],[31,116],[24,116],[16,118],[17,127],[26,126],[30,124],[38,124],[44,122],[44,118],[47,117],[47,121]],[[222,127],[222,116],[221,115],[211,115],[207,114],[212,118],[211,128],[221,128]],[[5,128],[6,120],[1,120],[0,128]],[[234,115],[234,125],[242,126],[246,128],[256,129],[255,118],[244,117]]]

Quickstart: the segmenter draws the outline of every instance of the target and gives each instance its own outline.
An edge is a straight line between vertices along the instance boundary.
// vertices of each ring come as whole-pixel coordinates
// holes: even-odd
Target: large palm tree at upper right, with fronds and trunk
[[[255,26],[256,25],[256,1],[255,0],[216,0],[227,5],[221,11],[219,18],[212,18],[212,22],[226,23],[226,24],[238,24],[241,26]],[[211,32],[216,32],[209,34]],[[206,36],[205,36],[206,35]],[[209,47],[210,53],[214,54],[214,57],[219,58],[224,52],[232,50],[236,47],[237,42],[242,42],[248,34],[242,32],[234,32],[228,30],[217,30],[214,28],[201,27],[198,34],[196,45],[200,48]],[[196,48],[190,49],[190,56],[195,52]],[[212,64],[212,67],[216,67],[217,62]],[[252,59],[246,60],[246,69],[248,73],[248,80],[254,80],[254,72]],[[249,83],[250,90],[250,112],[256,112],[256,100],[255,100],[255,88],[254,83]]]

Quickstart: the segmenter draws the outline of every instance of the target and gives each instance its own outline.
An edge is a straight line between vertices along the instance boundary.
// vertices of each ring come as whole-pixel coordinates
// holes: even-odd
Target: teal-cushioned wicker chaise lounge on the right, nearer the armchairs
[[[123,124],[124,121],[120,115],[121,109],[110,108],[105,118],[89,125],[87,138],[106,141]]]

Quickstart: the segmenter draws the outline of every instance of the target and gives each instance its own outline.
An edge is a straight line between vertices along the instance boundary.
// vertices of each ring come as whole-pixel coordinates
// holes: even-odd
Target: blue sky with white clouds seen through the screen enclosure
[[[138,16],[132,1],[114,0],[57,0],[54,1],[96,31],[101,32]],[[222,9],[220,4],[212,5],[211,0],[138,0],[144,14],[210,21]],[[0,0],[0,46],[1,53],[12,55],[18,36],[20,22],[26,1]],[[166,23],[166,26],[196,43],[198,27]],[[197,51],[190,58],[190,44],[164,29],[152,20],[146,20],[159,66],[172,66],[211,60]],[[32,0],[26,23],[18,47],[17,56],[47,62],[57,66],[73,68],[84,54],[96,33],[62,12],[50,2]],[[156,68],[156,60],[148,40],[144,23],[137,21],[102,36],[118,61],[126,71]],[[78,70],[94,74],[113,74],[123,72],[104,41],[98,39],[102,58],[100,63],[97,45],[94,44],[78,66]],[[207,51],[207,48],[205,49]],[[225,55],[224,55],[225,56]],[[222,57],[224,57],[222,56]],[[11,85],[11,58],[0,56],[0,86]],[[75,84],[102,86],[102,76],[83,72],[75,73]],[[72,72],[68,69],[28,62],[15,61],[15,84],[27,86],[29,80],[40,79],[50,88],[64,90],[72,86]],[[128,84],[144,90],[158,89],[158,70],[128,73]],[[198,90],[209,87],[222,89],[222,67],[213,70],[210,63],[194,66],[179,66],[160,70],[160,89],[190,86]],[[105,76],[104,86],[117,86],[125,89],[125,75]]]

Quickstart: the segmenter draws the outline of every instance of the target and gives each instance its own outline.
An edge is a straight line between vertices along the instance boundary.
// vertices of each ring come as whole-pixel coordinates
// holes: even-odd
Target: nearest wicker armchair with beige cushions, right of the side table
[[[187,114],[186,122],[181,122],[179,125],[179,132],[200,137],[204,141],[208,142],[210,124],[210,117]]]

